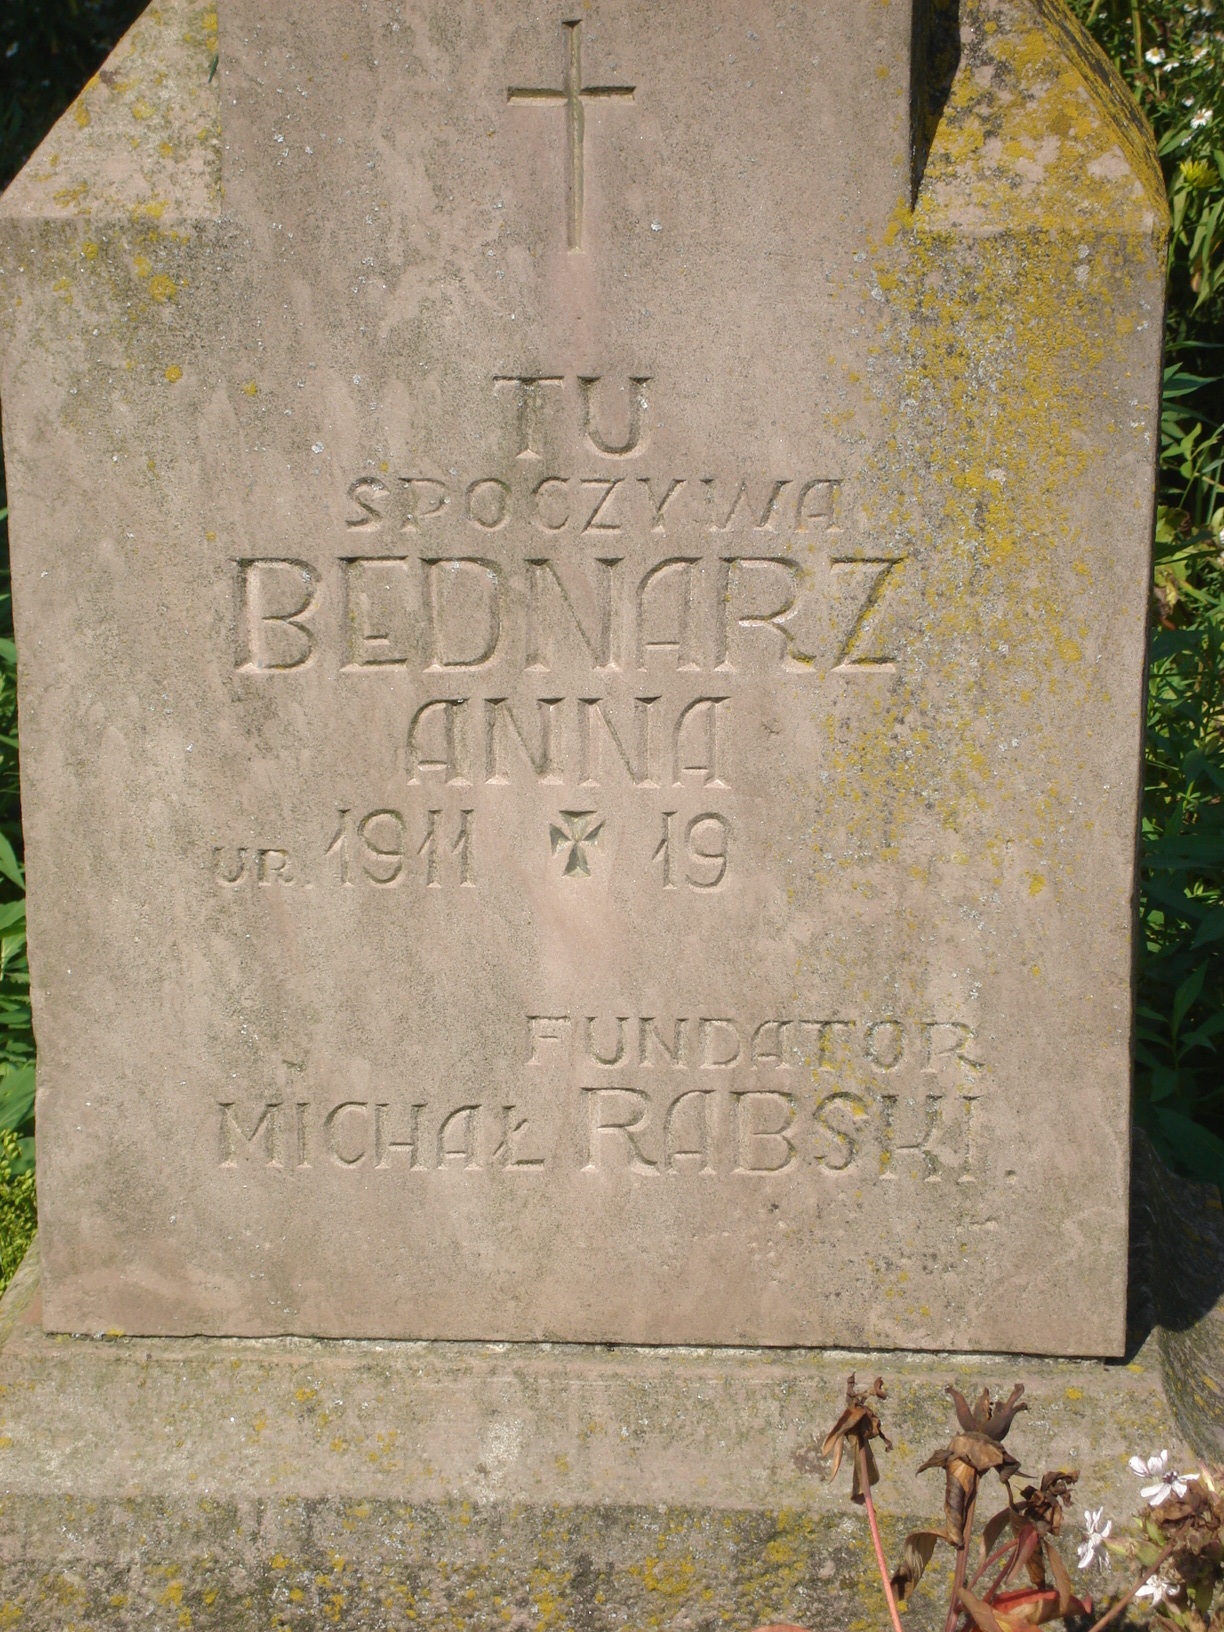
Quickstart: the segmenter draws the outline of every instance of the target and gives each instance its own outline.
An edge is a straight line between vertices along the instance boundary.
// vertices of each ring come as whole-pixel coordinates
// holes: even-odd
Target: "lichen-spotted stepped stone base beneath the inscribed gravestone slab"
[[[813,1457],[845,1374],[883,1371],[889,1555],[942,1505],[916,1475],[948,1382],[1023,1381],[1025,1472],[1080,1469],[1121,1521],[1169,1435],[1159,1353],[1129,1366],[976,1356],[70,1338],[31,1260],[0,1306],[0,1614],[31,1632],[181,1625],[880,1625],[849,1470]],[[33,1301],[31,1301],[33,1299]],[[1002,1492],[984,1487],[987,1513]],[[911,1609],[942,1625],[937,1563]],[[1100,1591],[1100,1578],[1084,1581]]]

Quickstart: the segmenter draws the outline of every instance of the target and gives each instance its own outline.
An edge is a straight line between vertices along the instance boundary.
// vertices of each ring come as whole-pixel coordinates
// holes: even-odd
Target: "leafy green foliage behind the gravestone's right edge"
[[[1224,1188],[1224,29],[1209,0],[1069,3],[1152,124],[1172,212],[1136,1116]]]

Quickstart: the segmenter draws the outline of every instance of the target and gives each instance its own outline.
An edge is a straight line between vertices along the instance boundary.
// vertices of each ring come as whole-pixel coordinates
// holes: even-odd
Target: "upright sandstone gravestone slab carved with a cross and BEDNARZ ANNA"
[[[1120,1350],[1160,178],[947,21],[166,5],[13,186],[51,1328]]]

